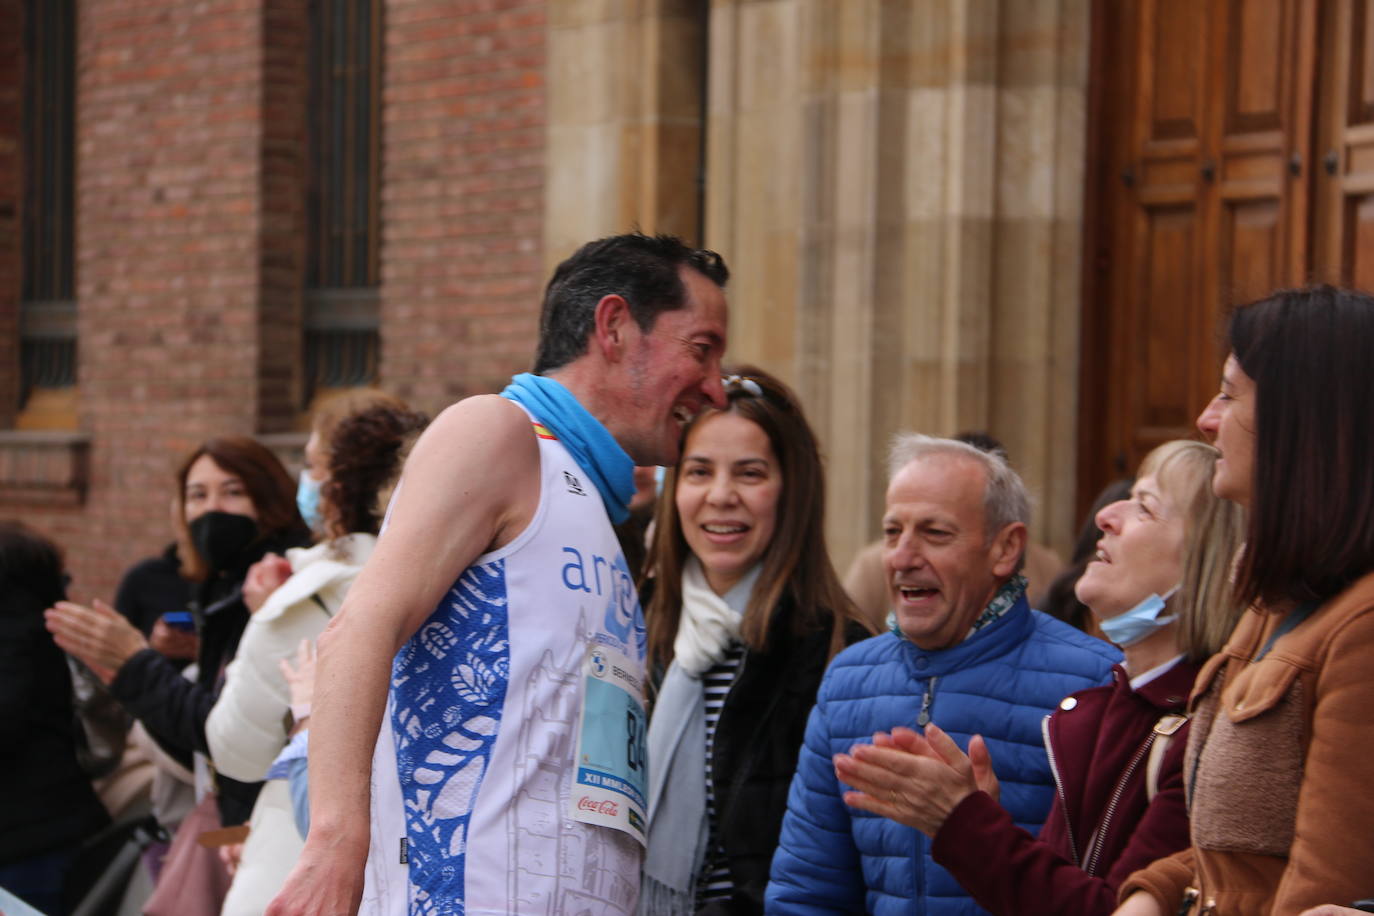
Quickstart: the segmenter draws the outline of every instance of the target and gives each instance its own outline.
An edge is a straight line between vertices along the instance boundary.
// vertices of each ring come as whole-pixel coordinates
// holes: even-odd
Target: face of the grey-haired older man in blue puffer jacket
[[[971,457],[930,456],[888,486],[882,562],[897,626],[923,650],[955,645],[969,633],[1020,551],[987,542],[987,477]],[[1009,526],[1011,527],[1011,526]]]

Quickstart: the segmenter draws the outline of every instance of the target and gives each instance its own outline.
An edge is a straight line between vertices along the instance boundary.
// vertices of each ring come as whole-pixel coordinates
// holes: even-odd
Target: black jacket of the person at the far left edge
[[[0,864],[8,864],[73,847],[110,818],[77,762],[71,674],[43,626],[55,599],[3,585]]]

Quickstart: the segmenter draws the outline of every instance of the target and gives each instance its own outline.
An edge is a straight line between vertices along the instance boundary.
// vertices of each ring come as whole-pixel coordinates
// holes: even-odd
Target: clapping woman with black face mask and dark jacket
[[[242,584],[269,551],[309,542],[295,508],[295,485],[278,457],[247,437],[207,439],[176,472],[177,522],[191,545],[185,574],[194,585],[191,612],[201,634],[199,670],[187,681],[124,617],[95,602],[59,602],[47,612],[58,645],[85,662],[158,743],[184,765],[207,754],[205,720],[223,669],[249,622]],[[258,783],[217,780],[220,817],[242,824]]]

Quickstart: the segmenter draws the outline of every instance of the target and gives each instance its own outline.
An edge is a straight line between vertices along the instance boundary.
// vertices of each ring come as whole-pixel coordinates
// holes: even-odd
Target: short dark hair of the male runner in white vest
[[[719,254],[692,249],[672,235],[628,232],[577,249],[544,287],[534,372],[551,372],[587,352],[596,304],[607,295],[620,295],[629,304],[642,331],[654,327],[661,312],[680,309],[687,298],[679,273],[684,266],[723,288],[730,280],[730,269]]]

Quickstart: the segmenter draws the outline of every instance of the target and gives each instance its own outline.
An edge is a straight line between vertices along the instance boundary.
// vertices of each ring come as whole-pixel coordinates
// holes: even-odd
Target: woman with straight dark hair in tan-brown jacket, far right
[[[1296,913],[1370,891],[1374,862],[1374,298],[1290,290],[1231,317],[1198,428],[1249,509],[1250,608],[1193,691],[1193,846],[1118,912]],[[1184,909],[1180,909],[1184,906]]]

